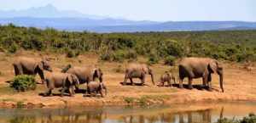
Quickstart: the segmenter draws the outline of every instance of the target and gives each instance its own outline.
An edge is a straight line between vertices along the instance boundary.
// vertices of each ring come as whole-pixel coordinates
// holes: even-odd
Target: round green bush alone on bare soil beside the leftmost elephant
[[[33,75],[17,75],[14,80],[10,82],[10,87],[18,92],[26,92],[28,90],[35,90],[37,82]]]

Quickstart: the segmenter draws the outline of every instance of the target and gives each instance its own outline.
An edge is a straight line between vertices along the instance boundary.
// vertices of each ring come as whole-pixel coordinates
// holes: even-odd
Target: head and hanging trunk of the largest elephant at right
[[[208,64],[207,70],[208,70],[209,73],[217,73],[219,75],[219,86],[220,86],[222,92],[224,92],[224,87],[223,87],[223,67],[222,67],[222,65],[219,64],[217,60],[212,60]]]

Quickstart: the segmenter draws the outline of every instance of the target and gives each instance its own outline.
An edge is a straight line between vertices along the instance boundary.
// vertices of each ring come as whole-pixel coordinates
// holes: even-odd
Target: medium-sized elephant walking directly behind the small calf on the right
[[[133,85],[132,78],[139,78],[142,81],[142,85],[144,85],[146,74],[151,75],[151,81],[154,85],[153,70],[151,70],[147,64],[128,64],[125,70],[125,79],[123,85],[126,85],[127,79],[130,79],[131,85]]]

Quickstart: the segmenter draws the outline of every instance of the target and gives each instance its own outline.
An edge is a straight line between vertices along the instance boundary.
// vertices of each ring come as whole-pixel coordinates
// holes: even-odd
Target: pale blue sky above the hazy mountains
[[[256,21],[256,0],[0,0],[0,9],[52,4],[60,10],[129,20]]]

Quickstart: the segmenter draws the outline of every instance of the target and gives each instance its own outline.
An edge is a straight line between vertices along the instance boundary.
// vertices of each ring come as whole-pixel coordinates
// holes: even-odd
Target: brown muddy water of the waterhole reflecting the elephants
[[[191,103],[150,108],[0,109],[0,123],[211,123],[256,113],[256,103]]]

